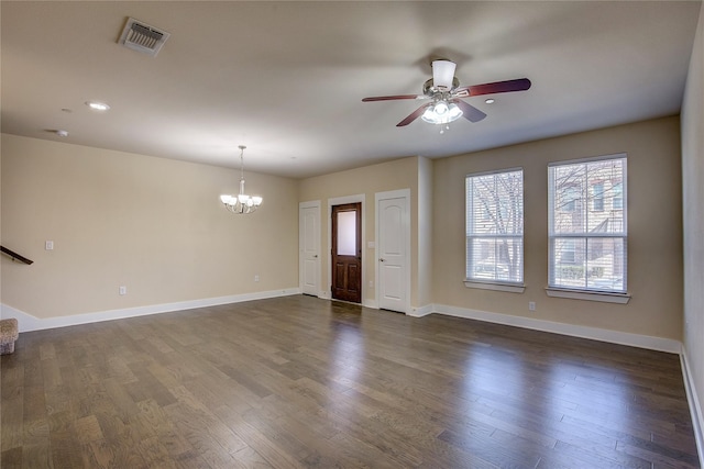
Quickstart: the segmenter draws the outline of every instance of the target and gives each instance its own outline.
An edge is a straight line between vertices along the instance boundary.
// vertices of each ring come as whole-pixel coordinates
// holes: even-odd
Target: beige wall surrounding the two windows
[[[682,337],[682,215],[676,116],[435,161],[435,303],[618,332]],[[546,295],[550,161],[628,154],[627,305]],[[464,176],[524,168],[522,294],[464,287]],[[449,201],[457,201],[449,203]],[[537,310],[528,311],[535,301]]]

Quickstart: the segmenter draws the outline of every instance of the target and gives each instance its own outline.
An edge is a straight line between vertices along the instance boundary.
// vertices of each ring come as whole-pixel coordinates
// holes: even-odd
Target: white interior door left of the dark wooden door
[[[320,202],[304,202],[298,209],[300,292],[320,292]]]

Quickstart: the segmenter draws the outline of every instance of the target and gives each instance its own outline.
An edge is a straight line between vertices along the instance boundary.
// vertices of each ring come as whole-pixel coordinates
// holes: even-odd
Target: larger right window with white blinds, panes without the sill
[[[625,293],[626,155],[552,164],[548,178],[549,288]]]

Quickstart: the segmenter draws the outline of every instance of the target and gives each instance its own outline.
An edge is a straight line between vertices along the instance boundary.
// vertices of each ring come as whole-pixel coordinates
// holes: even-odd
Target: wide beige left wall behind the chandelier
[[[248,172],[264,204],[238,216],[219,201],[238,191],[238,170],[6,134],[1,163],[2,244],[34,260],[2,256],[2,302],[24,313],[298,287],[295,180]]]

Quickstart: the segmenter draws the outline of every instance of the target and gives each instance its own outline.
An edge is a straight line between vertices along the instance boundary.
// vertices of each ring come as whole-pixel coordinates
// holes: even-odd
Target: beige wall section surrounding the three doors
[[[385,192],[398,189],[410,189],[410,213],[411,213],[411,284],[418,282],[418,158],[396,159],[388,163],[382,163],[363,168],[350,169],[346,171],[333,172],[324,176],[317,176],[300,180],[299,201],[307,202],[320,200],[321,204],[321,223],[320,223],[320,244],[321,253],[330,253],[330,239],[328,235],[328,200],[349,196],[364,194],[364,237],[369,243],[375,241],[375,208],[374,194],[376,192]],[[369,282],[374,281],[374,249],[364,247],[366,252],[366,263],[362,267],[366,283],[363,286],[363,302],[370,302],[375,298],[375,290],[369,288]],[[329,257],[321,256],[321,281],[322,290],[329,291],[330,279],[328,276]],[[416,288],[411,289],[411,304],[415,305]]]

